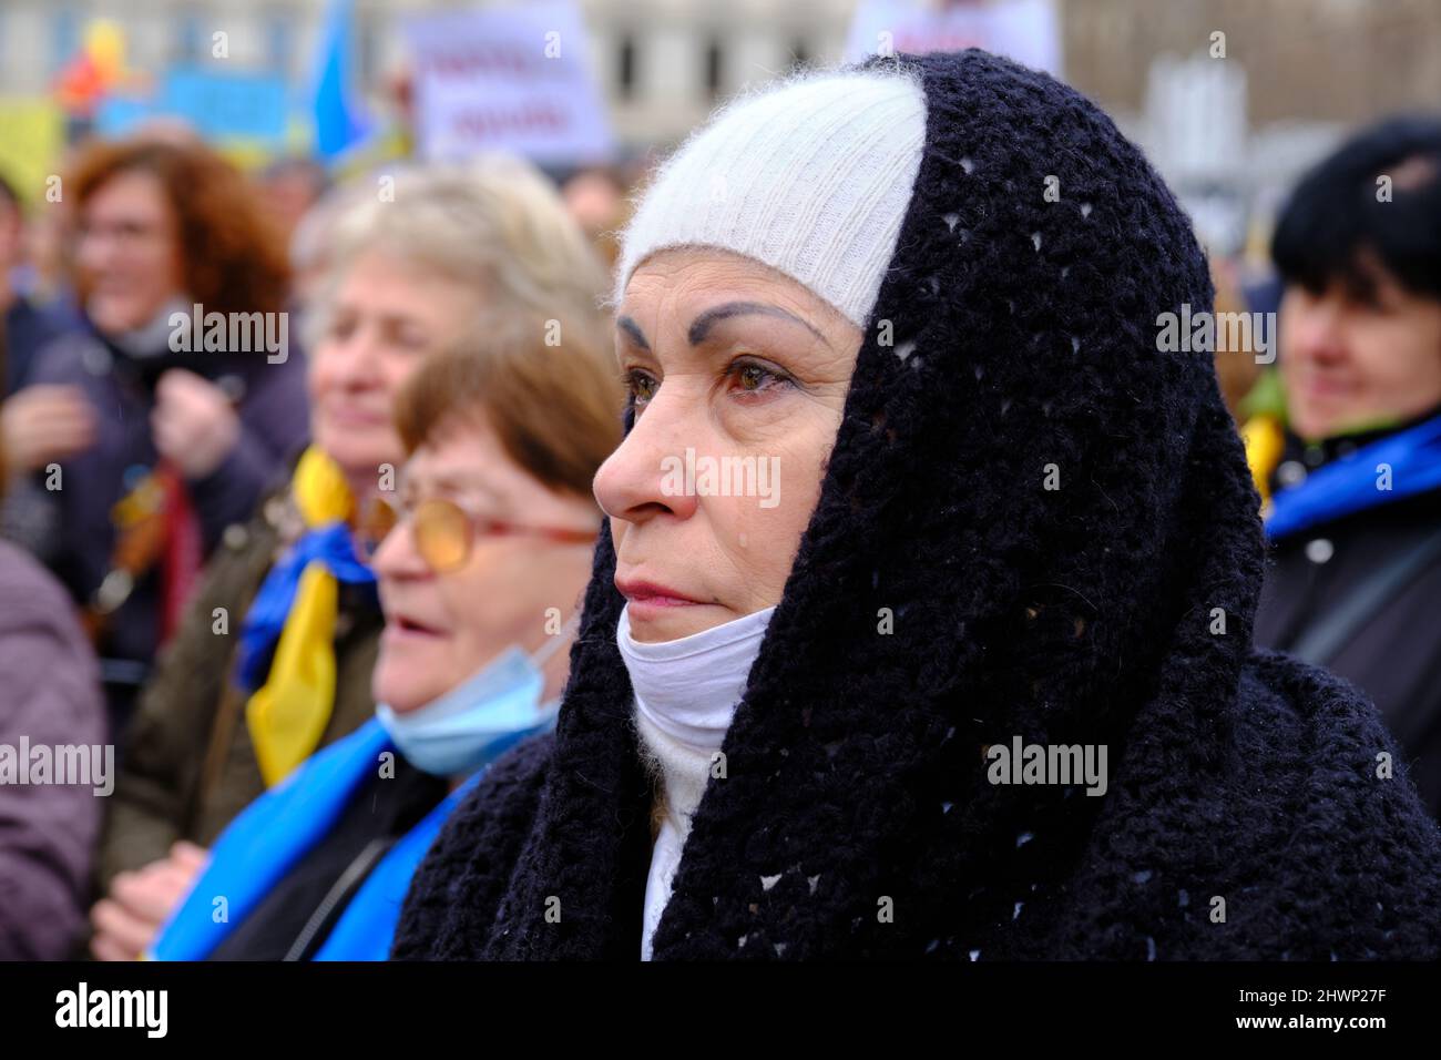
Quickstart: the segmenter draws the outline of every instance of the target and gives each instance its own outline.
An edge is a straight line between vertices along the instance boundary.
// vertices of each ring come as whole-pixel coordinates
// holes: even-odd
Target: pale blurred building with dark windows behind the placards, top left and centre
[[[284,74],[303,85],[327,0],[4,0],[0,6],[0,95],[43,94],[81,46],[88,20],[125,29],[127,61],[140,71],[210,63],[216,32],[226,62]],[[405,63],[402,23],[427,12],[487,6],[474,0],[356,0],[357,65],[378,95]],[[493,6],[493,4],[490,4]],[[684,136],[735,91],[797,63],[840,58],[855,0],[581,0],[591,68],[628,143]]]

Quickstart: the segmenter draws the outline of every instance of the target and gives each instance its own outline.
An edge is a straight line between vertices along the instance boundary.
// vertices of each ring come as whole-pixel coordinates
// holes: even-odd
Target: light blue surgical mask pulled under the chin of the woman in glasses
[[[566,639],[552,637],[535,656],[510,646],[424,707],[399,712],[379,704],[376,720],[416,769],[434,776],[468,776],[555,725],[559,701],[540,704],[540,668]]]

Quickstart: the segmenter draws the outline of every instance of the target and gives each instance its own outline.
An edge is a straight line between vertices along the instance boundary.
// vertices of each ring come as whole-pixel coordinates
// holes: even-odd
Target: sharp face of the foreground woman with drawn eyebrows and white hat
[[[631,274],[615,349],[635,423],[595,496],[637,640],[780,601],[860,339],[797,281],[725,251],[661,251]]]

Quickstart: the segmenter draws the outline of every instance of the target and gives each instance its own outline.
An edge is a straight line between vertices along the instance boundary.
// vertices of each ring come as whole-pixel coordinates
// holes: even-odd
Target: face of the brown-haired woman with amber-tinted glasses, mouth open
[[[457,421],[418,449],[396,493],[402,509],[445,498],[473,516],[517,526],[595,531],[599,525],[589,498],[550,492],[510,459],[484,421]],[[535,652],[575,610],[592,548],[478,535],[460,570],[437,574],[416,552],[411,522],[402,521],[373,560],[385,609],[372,679],[376,701],[403,714],[512,645]]]

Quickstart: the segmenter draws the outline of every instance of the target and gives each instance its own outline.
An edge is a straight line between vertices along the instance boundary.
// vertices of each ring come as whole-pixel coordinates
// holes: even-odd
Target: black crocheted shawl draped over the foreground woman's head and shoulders
[[[656,959],[1435,958],[1441,832],[1376,711],[1252,648],[1242,446],[1209,355],[1157,352],[1212,306],[1186,215],[1050,76],[899,62],[919,175]],[[614,558],[555,736],[457,809],[395,956],[638,959]],[[1105,744],[1108,792],[990,783],[1016,736]]]

